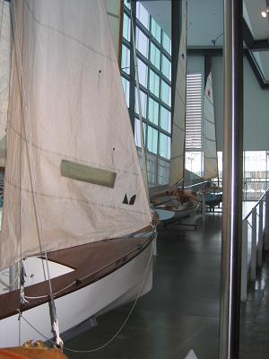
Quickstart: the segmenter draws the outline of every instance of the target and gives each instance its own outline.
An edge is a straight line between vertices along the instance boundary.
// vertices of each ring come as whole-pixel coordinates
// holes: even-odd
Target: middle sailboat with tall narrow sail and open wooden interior
[[[172,126],[169,186],[152,188],[151,202],[163,222],[177,221],[194,214],[200,198],[180,188],[184,182],[187,81],[187,1],[182,2],[182,28]]]

